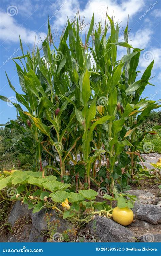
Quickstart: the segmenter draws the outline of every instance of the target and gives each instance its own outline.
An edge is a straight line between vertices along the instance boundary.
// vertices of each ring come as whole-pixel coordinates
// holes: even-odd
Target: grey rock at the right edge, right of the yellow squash
[[[155,205],[141,205],[136,211],[135,216],[137,219],[156,225],[161,223],[161,208]]]

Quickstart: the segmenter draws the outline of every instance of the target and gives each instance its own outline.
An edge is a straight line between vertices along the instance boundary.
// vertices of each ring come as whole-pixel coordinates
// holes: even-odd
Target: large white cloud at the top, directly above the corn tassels
[[[57,10],[58,6],[61,6],[65,3],[64,0],[57,0],[52,4],[53,12]],[[89,0],[85,7],[82,8],[80,1],[78,0],[69,0],[67,4],[55,15],[53,22],[54,28],[62,27],[66,24],[67,16],[68,18],[73,18],[79,9],[81,17],[85,15],[85,21],[90,22],[93,12],[95,16],[95,22],[98,22],[101,19],[103,13],[103,18],[105,18],[106,9],[108,7],[108,15],[112,16],[114,11],[115,21],[119,20],[124,25],[127,23],[127,17],[132,18],[138,11],[144,6],[144,0],[123,0],[121,4],[117,0]]]

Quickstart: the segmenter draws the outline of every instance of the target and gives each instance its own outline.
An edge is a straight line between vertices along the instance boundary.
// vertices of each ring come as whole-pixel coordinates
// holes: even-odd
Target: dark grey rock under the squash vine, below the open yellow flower
[[[48,229],[45,211],[46,209],[42,209],[41,211],[36,213],[31,212],[32,224],[39,232]],[[48,214],[48,216],[50,216],[51,223],[58,221],[57,229],[55,232],[61,233],[68,228],[71,228],[70,224],[68,224],[68,222],[63,220],[62,218],[59,218],[58,214],[54,210],[49,210]]]

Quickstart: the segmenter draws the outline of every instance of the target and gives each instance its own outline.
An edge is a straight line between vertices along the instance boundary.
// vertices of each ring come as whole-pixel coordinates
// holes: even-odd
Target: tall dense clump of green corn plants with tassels
[[[70,175],[72,161],[74,172],[71,175],[76,191],[83,188],[82,183],[88,184],[89,189],[91,182],[102,186],[96,177],[105,154],[105,176],[109,177],[113,193],[117,179],[122,176],[121,167],[125,167],[119,165],[120,155],[126,152],[131,157],[130,175],[133,177],[134,158],[140,157],[137,145],[146,133],[156,133],[143,131],[141,137],[136,136],[138,126],[152,109],[159,107],[157,102],[141,98],[146,85],[150,84],[154,61],[141,79],[136,80],[142,49],[128,43],[128,25],[124,41],[119,42],[119,26],[108,15],[104,25],[100,21],[96,26],[93,15],[85,36],[82,24],[79,15],[68,20],[57,47],[48,20],[48,34],[42,49],[34,47],[32,55],[24,54],[20,40],[22,56],[14,61],[24,94],[18,94],[9,79],[8,82],[17,101],[25,108],[13,103],[26,128],[14,123],[6,126],[15,127],[22,133],[30,129],[30,136],[25,139],[29,144],[32,141],[31,147],[36,151],[43,177],[46,174],[42,167],[44,153],[48,154],[46,169],[57,172],[62,182],[66,174]],[[117,59],[118,46],[127,49],[120,60]],[[77,159],[78,154],[81,160]],[[57,156],[59,168],[52,164]],[[128,179],[128,175],[124,177]]]

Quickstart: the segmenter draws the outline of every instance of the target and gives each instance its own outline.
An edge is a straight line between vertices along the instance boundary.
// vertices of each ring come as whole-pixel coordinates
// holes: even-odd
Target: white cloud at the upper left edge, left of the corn
[[[35,36],[36,42],[40,40],[40,36],[43,39],[45,33],[38,33],[36,31],[25,28],[19,24],[14,17],[9,16],[7,13],[0,11],[0,39],[6,42],[18,42],[19,34],[23,43],[34,43]]]

